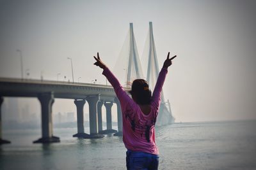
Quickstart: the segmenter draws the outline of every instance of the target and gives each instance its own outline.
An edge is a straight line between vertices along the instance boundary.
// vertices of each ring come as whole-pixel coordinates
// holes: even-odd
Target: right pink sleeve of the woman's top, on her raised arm
[[[166,78],[166,74],[168,73],[168,69],[167,68],[162,68],[157,81],[156,81],[156,86],[152,95],[152,105],[154,106],[154,108],[156,108],[157,112],[159,111],[159,105],[161,102],[161,91],[163,88],[163,84],[164,84],[164,80]]]

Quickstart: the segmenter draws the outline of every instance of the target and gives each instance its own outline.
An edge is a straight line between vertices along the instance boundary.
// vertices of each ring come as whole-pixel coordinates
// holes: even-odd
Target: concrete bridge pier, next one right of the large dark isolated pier
[[[85,100],[75,100],[77,110],[77,134],[74,134],[73,137],[78,138],[88,138],[89,134],[84,133],[84,104]]]

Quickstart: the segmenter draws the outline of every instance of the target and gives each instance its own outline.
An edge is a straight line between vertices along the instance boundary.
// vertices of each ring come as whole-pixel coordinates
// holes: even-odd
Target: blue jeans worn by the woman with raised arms
[[[127,150],[126,152],[126,167],[127,170],[135,169],[158,169],[159,155],[154,155],[145,152],[134,152]]]

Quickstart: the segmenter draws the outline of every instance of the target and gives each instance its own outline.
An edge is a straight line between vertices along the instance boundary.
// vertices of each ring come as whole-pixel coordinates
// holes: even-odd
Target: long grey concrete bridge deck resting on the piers
[[[125,90],[129,90],[126,89]],[[54,92],[54,97],[65,99],[84,99],[86,96],[99,95],[115,97],[111,85],[79,83],[70,81],[31,80],[0,78],[0,96],[37,97],[44,92]]]

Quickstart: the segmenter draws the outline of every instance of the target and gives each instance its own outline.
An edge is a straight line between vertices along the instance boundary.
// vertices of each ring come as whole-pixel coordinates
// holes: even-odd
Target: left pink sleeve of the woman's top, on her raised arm
[[[125,110],[125,108],[127,107],[128,104],[133,103],[133,100],[125,92],[125,90],[123,89],[123,87],[120,84],[120,82],[117,80],[115,75],[109,70],[108,67],[104,68],[102,74],[104,76],[106,76],[106,78],[108,79],[109,83],[111,83],[111,85],[113,86],[113,88],[115,90],[115,93],[116,93],[116,96],[117,96],[117,98],[120,101],[121,108],[122,108],[122,110]]]

